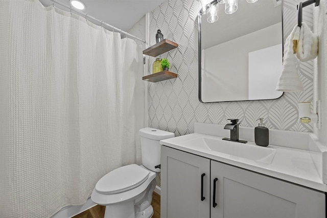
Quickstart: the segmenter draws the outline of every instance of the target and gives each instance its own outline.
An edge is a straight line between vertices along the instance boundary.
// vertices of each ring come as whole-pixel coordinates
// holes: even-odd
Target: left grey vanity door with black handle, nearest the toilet
[[[209,218],[209,189],[209,159],[161,146],[161,218]]]

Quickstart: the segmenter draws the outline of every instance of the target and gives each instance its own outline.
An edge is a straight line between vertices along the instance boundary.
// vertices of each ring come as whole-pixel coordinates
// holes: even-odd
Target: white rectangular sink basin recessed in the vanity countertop
[[[275,156],[276,150],[258,145],[243,144],[238,142],[225,141],[221,138],[200,137],[185,141],[189,148],[202,151],[220,152],[235,158],[244,158],[261,163],[270,164]]]

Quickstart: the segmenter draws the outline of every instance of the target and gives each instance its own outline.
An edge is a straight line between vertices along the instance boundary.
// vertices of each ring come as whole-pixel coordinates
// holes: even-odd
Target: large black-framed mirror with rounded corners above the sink
[[[282,6],[276,0],[238,2],[233,14],[216,4],[215,23],[199,14],[199,100],[276,99],[283,64]]]

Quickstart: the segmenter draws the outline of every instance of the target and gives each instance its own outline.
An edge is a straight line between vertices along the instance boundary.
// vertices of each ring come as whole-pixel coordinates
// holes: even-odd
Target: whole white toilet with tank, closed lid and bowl
[[[91,194],[91,200],[105,205],[104,217],[134,218],[151,217],[152,193],[156,186],[155,177],[160,168],[159,141],[174,137],[174,133],[154,128],[142,128],[142,163],[131,164],[112,170],[102,177]]]

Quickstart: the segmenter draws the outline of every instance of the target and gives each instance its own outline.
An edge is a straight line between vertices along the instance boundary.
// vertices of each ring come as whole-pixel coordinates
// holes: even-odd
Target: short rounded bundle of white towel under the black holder
[[[317,55],[318,35],[314,34],[308,25],[302,22],[296,56],[300,61],[305,62],[316,58]]]

